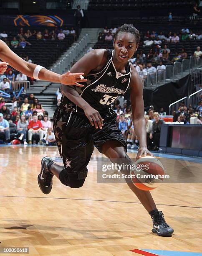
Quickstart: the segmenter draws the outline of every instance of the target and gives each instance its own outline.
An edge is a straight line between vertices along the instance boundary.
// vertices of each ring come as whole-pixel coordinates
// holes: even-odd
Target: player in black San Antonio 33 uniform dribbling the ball
[[[49,157],[42,159],[38,184],[44,194],[51,192],[53,175],[68,187],[82,187],[93,146],[111,161],[125,159],[127,164],[133,164],[126,154],[126,141],[116,127],[116,113],[110,108],[128,87],[134,130],[140,143],[137,158],[152,155],[146,148],[142,82],[129,62],[137,51],[139,40],[139,31],[124,24],[116,31],[113,51],[91,51],[72,67],[71,72],[83,72],[88,80],[84,87],[61,86],[63,97],[54,114],[53,127],[64,167]],[[174,230],[165,222],[162,211],[157,210],[150,192],[138,189],[129,180],[126,182],[151,215],[152,232],[172,236]]]

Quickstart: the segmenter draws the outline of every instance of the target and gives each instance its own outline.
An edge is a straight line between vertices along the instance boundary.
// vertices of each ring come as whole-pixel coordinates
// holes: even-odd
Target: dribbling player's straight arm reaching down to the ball
[[[138,72],[131,65],[130,97],[133,116],[133,125],[136,136],[139,139],[139,151],[136,159],[150,155],[146,146],[146,121],[144,118],[143,82]]]

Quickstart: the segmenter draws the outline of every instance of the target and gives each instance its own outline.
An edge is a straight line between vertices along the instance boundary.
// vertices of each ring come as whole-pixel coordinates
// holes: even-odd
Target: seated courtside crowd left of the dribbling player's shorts
[[[5,104],[6,103],[6,104]],[[33,93],[24,100],[7,100],[0,97],[1,143],[56,145],[53,124]]]

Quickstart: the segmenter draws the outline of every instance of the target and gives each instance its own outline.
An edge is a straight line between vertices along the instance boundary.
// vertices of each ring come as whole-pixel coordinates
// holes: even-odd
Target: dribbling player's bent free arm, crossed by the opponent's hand
[[[97,49],[90,51],[83,56],[76,64],[71,68],[71,72],[83,72],[85,75],[91,70],[101,69],[107,60],[107,53],[105,49]],[[63,94],[76,104],[79,108],[82,108],[86,117],[90,121],[91,125],[95,125],[96,129],[99,127],[102,129],[103,119],[100,113],[91,107],[75,90],[73,86],[61,85],[61,91]]]

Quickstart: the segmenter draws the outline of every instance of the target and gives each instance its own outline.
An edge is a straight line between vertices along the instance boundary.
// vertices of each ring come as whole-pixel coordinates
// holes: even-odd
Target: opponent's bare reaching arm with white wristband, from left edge
[[[0,63],[0,73],[4,73],[9,64],[14,69],[22,72],[28,77],[33,77],[37,80],[45,80],[50,82],[58,82],[62,84],[74,84],[77,86],[83,86],[78,84],[78,82],[83,82],[83,72],[71,74],[67,72],[66,74],[56,74],[52,71],[45,69],[45,67],[38,66],[36,64],[28,63],[21,59],[17,54],[10,50],[10,48],[0,40],[0,59],[5,62]]]

